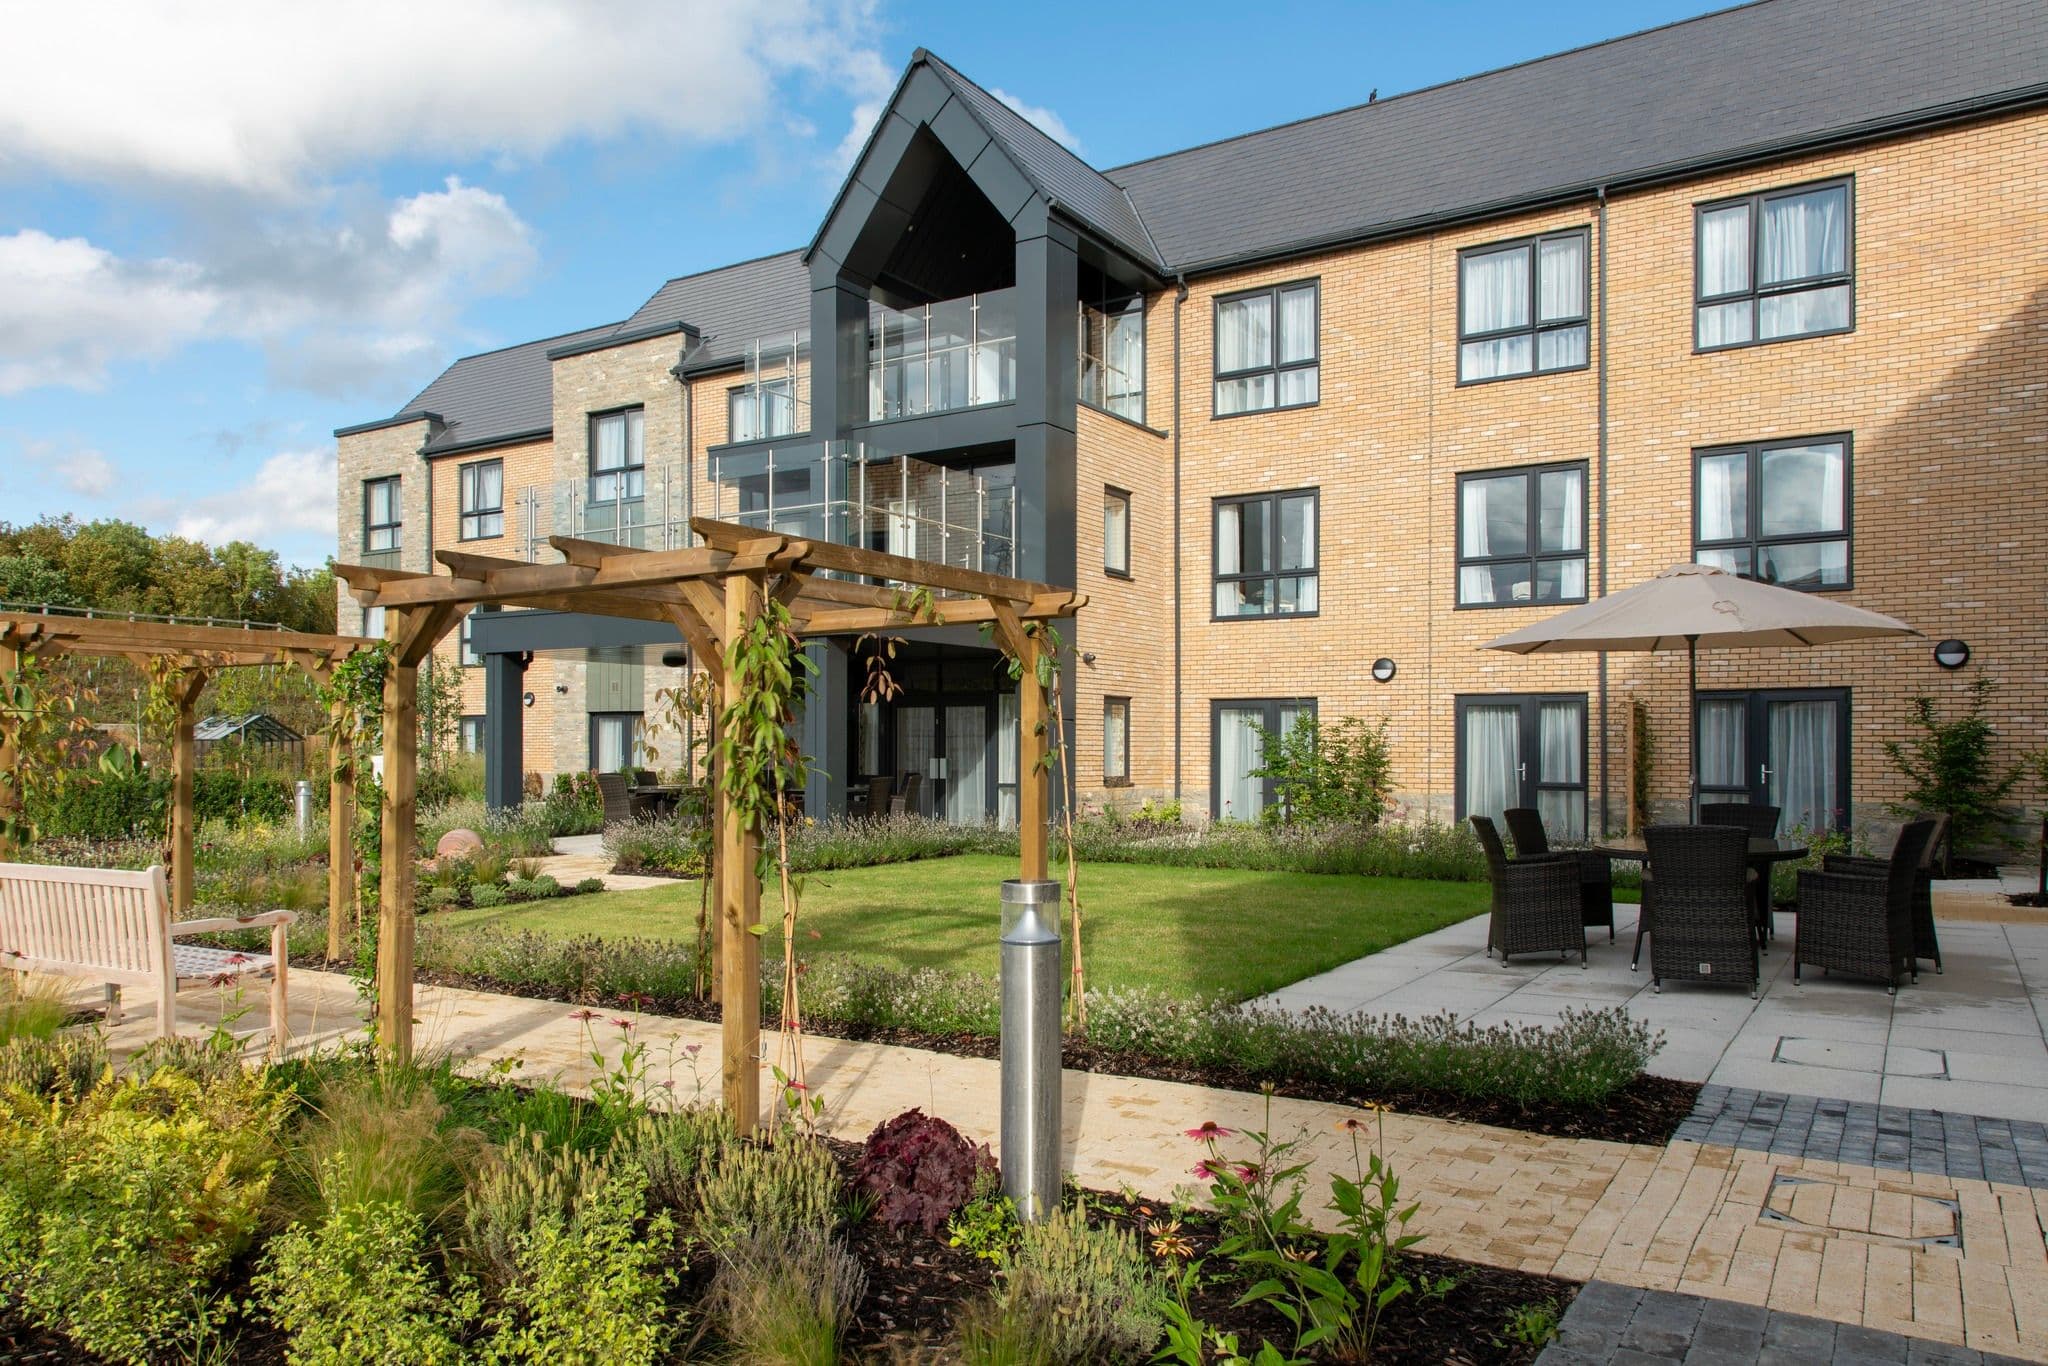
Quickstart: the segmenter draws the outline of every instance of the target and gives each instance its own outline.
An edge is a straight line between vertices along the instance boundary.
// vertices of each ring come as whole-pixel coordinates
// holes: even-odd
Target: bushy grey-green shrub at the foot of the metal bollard
[[[1044,1315],[1047,1346],[1063,1362],[1143,1362],[1165,1333],[1165,1286],[1137,1237],[1087,1223],[1081,1208],[1026,1225],[1006,1282]]]

